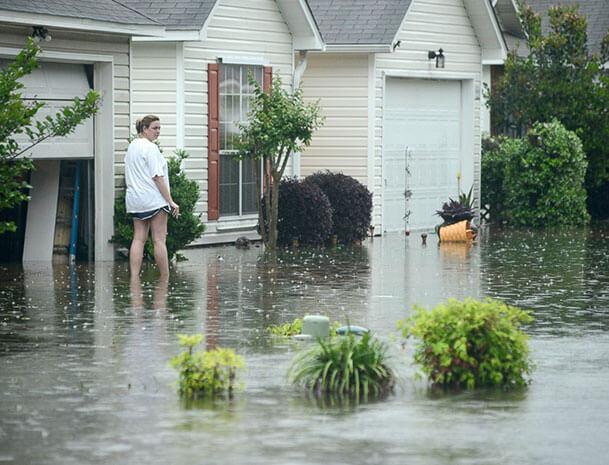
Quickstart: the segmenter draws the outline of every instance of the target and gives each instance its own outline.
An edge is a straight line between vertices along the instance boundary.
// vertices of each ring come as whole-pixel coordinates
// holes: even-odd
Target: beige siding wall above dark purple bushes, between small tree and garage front
[[[307,101],[319,100],[324,125],[301,154],[301,175],[330,170],[368,177],[368,55],[310,54],[303,76]]]

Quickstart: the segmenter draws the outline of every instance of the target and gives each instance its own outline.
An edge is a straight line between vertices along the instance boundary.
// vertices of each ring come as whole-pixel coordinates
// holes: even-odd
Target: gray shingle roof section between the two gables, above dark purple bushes
[[[307,0],[328,45],[391,45],[411,0]]]

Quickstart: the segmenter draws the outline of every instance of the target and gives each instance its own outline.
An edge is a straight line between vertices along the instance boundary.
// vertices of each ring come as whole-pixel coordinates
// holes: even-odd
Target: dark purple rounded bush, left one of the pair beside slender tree
[[[266,196],[262,199],[263,205]],[[266,211],[266,208],[263,208]],[[277,219],[277,243],[321,246],[332,234],[332,208],[326,194],[314,184],[296,178],[281,180]]]

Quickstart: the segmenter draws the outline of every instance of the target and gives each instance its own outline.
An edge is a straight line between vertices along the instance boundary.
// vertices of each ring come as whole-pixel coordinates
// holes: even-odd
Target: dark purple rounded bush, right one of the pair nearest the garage
[[[342,173],[317,172],[306,178],[319,186],[332,206],[333,235],[343,244],[368,236],[372,215],[372,194],[357,179]]]

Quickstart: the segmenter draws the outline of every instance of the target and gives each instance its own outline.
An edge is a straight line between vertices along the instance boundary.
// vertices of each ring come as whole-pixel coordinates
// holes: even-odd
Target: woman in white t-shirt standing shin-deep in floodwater
[[[171,198],[167,160],[154,141],[161,133],[158,116],[147,115],[135,122],[138,138],[127,149],[125,157],[125,206],[133,218],[133,241],[129,249],[131,277],[139,277],[148,231],[152,234],[154,260],[161,279],[169,278],[167,257],[167,215],[175,218],[180,207]]]

